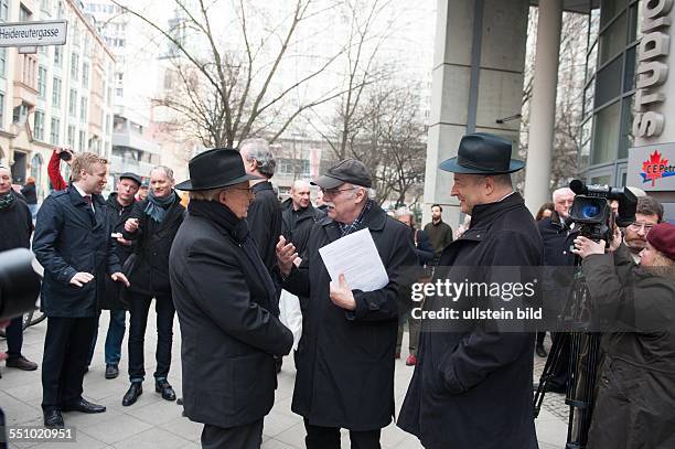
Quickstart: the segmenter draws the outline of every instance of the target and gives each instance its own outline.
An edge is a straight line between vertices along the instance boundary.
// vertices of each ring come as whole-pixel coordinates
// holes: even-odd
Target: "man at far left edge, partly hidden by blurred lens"
[[[0,164],[0,252],[30,248],[33,218],[28,204],[12,190],[12,173]],[[23,317],[10,321],[7,328],[8,367],[23,371],[38,370],[38,364],[21,355],[23,345]],[[2,377],[2,376],[0,376]]]

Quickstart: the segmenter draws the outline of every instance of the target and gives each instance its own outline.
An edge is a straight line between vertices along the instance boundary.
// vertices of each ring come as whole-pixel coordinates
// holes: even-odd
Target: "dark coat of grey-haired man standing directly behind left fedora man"
[[[260,258],[272,274],[277,266],[277,242],[281,235],[281,203],[269,181],[253,186],[255,201],[248,207],[248,227],[258,245]]]

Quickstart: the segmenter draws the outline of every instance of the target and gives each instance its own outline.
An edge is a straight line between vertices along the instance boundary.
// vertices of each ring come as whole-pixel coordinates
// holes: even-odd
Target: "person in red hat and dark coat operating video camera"
[[[602,336],[588,448],[675,447],[675,225],[650,231],[640,266],[620,242],[615,233],[604,254],[604,240],[575,239],[593,310],[614,307],[620,322],[639,328]]]

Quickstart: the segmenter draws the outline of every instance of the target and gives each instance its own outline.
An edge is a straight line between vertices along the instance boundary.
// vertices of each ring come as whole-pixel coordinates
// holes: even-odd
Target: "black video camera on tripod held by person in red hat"
[[[614,223],[625,227],[635,222],[638,199],[629,189],[586,185],[579,180],[572,180],[569,188],[576,193],[569,217],[580,235],[609,244],[613,237]],[[612,200],[619,202],[615,217],[609,205]]]

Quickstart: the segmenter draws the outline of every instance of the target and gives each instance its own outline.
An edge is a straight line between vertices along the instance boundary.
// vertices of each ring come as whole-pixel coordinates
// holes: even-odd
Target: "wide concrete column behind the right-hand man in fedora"
[[[517,141],[519,120],[496,120],[521,113],[528,8],[529,0],[438,0],[422,224],[433,203],[452,228],[459,224],[452,174],[438,165],[457,156],[462,136]]]

